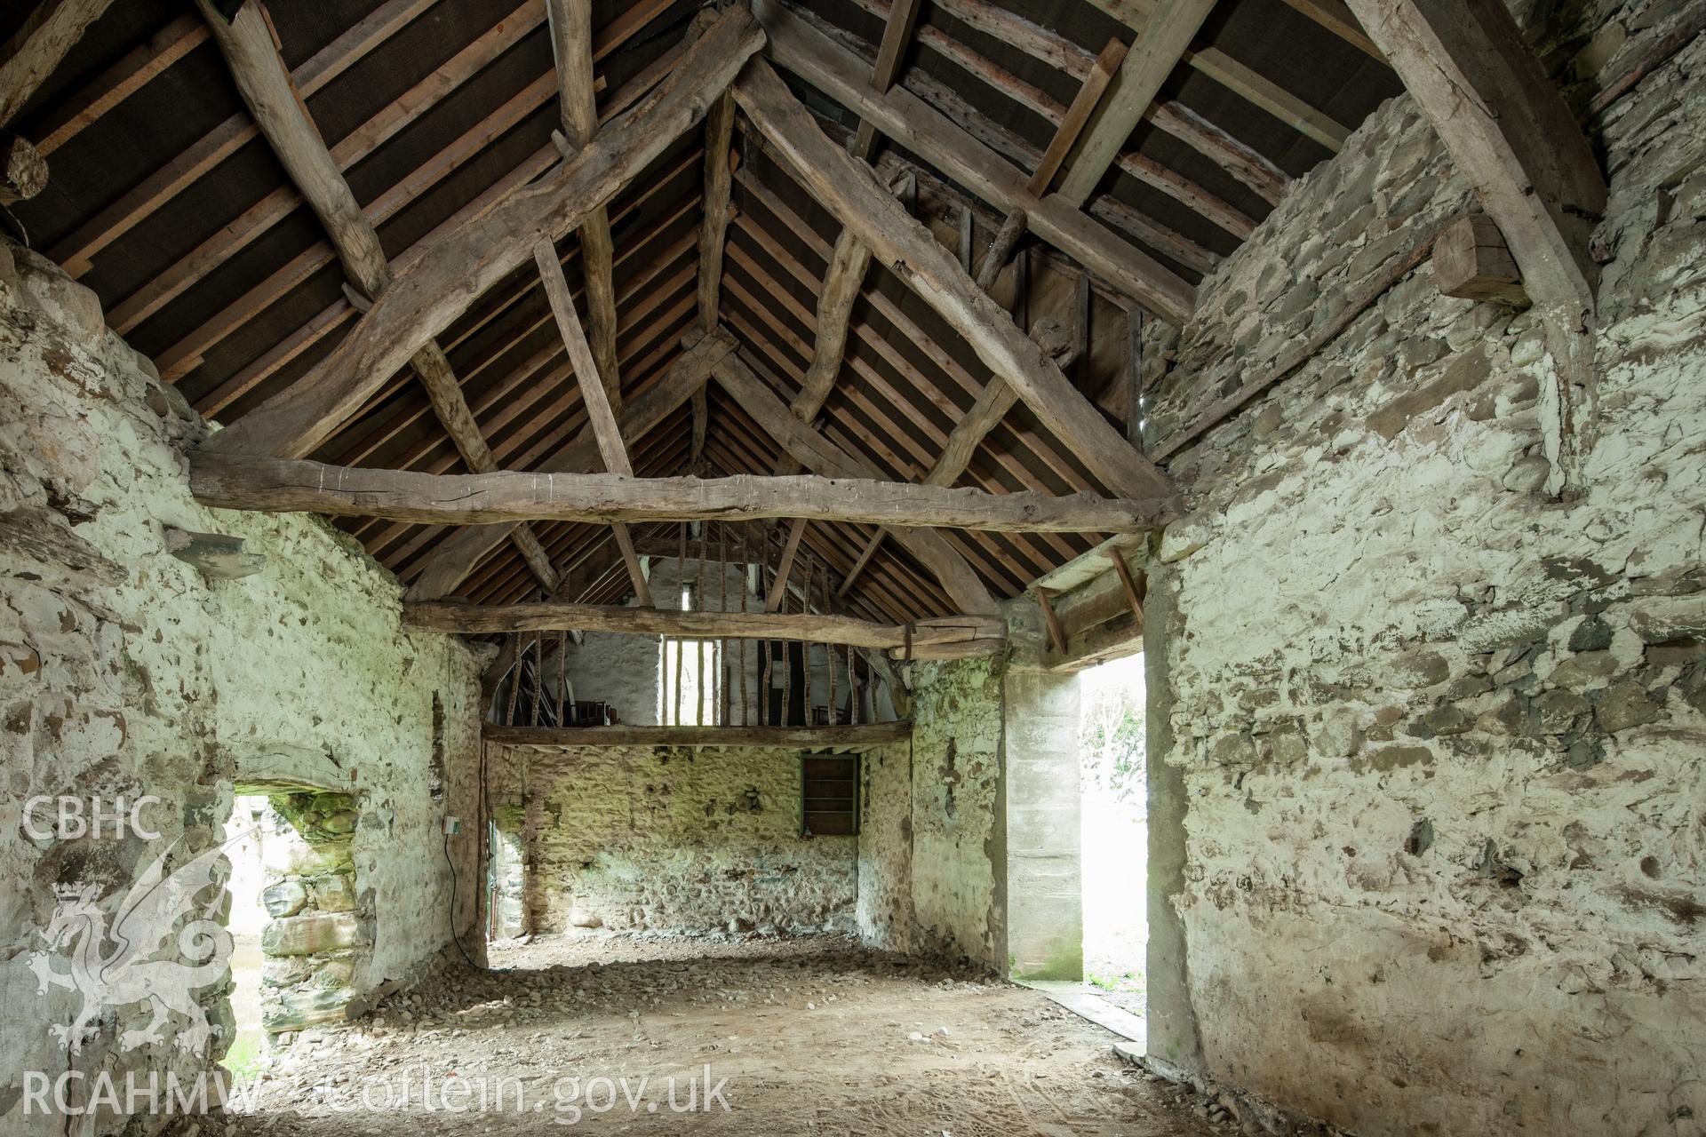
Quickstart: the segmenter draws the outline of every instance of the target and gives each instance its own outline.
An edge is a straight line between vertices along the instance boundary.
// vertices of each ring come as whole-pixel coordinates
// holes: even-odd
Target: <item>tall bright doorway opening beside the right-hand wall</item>
[[[1143,1016],[1150,847],[1143,656],[1087,668],[1078,684],[1083,975],[1109,1002]]]

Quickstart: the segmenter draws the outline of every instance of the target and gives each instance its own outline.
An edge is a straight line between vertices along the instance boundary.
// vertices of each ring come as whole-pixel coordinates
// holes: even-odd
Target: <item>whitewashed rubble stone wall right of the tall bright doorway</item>
[[[1580,498],[1546,493],[1537,317],[1426,266],[1170,464],[1153,1055],[1367,1135],[1706,1125],[1703,72],[1696,39],[1592,131]],[[1203,283],[1150,442],[1467,203],[1411,101],[1377,111]]]

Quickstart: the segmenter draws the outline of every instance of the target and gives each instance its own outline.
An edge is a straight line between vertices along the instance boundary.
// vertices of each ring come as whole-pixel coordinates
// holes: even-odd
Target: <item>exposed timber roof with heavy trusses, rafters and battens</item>
[[[1223,49],[1213,0],[1059,27],[995,0],[630,0],[599,29],[587,0],[379,0],[317,43],[293,10],[198,3],[102,39],[147,14],[53,0],[14,29],[0,124],[55,164],[183,68],[222,60],[237,92],[109,199],[17,216],[225,421],[205,499],[339,515],[415,602],[645,600],[657,522],[776,517],[844,619],[988,617],[1181,506],[1124,380],[1087,380],[1094,310],[1187,322],[1348,133]],[[1339,0],[1286,3],[1385,90]],[[61,58],[82,78],[55,87]],[[355,94],[375,75],[392,97]],[[254,147],[281,181],[159,235]],[[1071,281],[1065,331],[1027,314],[1037,273]]]

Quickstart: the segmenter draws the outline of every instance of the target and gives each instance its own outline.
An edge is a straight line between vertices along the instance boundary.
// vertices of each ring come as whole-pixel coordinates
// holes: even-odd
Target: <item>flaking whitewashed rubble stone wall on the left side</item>
[[[104,326],[94,293],[0,242],[0,1118],[9,1134],[107,1134],[101,1113],[67,1127],[22,1117],[29,1071],[67,1069],[49,1035],[82,989],[41,992],[56,886],[97,890],[111,919],[165,847],[222,839],[234,788],[329,788],[358,803],[350,857],[372,949],[348,977],[360,996],[406,982],[449,944],[450,869],[440,822],[471,818],[478,675],[449,636],[399,631],[401,588],[348,537],[310,517],[212,511],[188,489],[184,450],[206,424]],[[165,551],[164,527],[242,537],[261,573],[205,580]],[[268,789],[263,789],[268,791]],[[252,793],[252,789],[249,789]],[[159,840],[34,839],[32,794],[160,798],[142,822]],[[474,842],[450,839],[459,927],[474,924]],[[87,934],[78,932],[87,941]],[[466,943],[478,951],[478,936]],[[51,970],[63,975],[67,963]],[[229,975],[229,972],[227,972]],[[230,1026],[225,987],[196,990]],[[99,1009],[104,996],[90,990]],[[97,1016],[75,1069],[193,1079],[205,1057],[165,1040],[121,1047],[145,1002]],[[145,1127],[152,1128],[152,1127]]]

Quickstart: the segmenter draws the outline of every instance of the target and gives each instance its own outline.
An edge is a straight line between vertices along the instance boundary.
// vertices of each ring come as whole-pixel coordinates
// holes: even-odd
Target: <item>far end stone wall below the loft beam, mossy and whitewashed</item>
[[[858,839],[800,834],[798,750],[505,748],[490,771],[541,932],[853,931]]]

